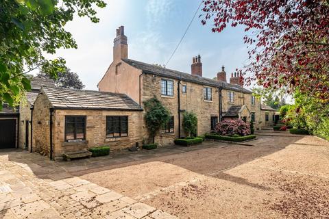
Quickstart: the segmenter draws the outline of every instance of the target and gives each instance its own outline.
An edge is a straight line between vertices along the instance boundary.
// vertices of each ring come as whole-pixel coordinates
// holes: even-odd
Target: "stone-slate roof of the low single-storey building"
[[[55,109],[143,110],[125,94],[56,87],[42,87],[41,92],[45,92]]]

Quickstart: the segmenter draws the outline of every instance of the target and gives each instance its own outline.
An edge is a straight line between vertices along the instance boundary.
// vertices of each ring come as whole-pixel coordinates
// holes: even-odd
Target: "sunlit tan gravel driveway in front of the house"
[[[245,145],[178,150],[77,175],[180,218],[329,218],[325,140],[262,131]]]

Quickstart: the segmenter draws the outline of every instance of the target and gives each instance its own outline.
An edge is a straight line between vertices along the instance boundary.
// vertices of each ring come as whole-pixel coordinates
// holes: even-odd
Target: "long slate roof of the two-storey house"
[[[129,64],[130,66],[134,66],[135,68],[143,70],[143,73],[155,74],[155,75],[160,75],[162,77],[170,77],[173,79],[181,78],[184,81],[200,83],[200,84],[206,85],[206,86],[214,86],[214,87],[219,87],[219,88],[225,88],[227,90],[234,90],[234,91],[238,91],[238,92],[252,94],[252,92],[250,90],[242,88],[241,86],[239,86],[237,84],[226,83],[224,81],[216,81],[214,79],[208,79],[206,77],[199,77],[199,76],[191,75],[188,73],[182,73],[178,70],[162,68],[162,67],[156,66],[154,64],[147,64],[144,62],[138,62],[136,60],[123,59],[123,62]]]

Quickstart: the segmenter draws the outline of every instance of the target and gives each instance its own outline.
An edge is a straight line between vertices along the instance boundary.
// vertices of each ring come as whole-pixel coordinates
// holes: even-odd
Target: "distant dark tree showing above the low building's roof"
[[[56,86],[61,88],[73,88],[73,89],[84,89],[84,83],[79,79],[79,75],[77,73],[71,72],[69,68],[66,68],[66,71],[64,73],[58,73],[55,75],[50,75],[45,72],[38,73],[36,77],[41,78],[50,78],[55,81]]]

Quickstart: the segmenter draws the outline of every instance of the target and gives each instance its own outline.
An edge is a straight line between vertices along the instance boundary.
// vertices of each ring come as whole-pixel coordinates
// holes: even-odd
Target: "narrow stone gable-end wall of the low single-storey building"
[[[49,107],[47,96],[39,94],[34,102],[32,150],[47,156],[50,151]]]

